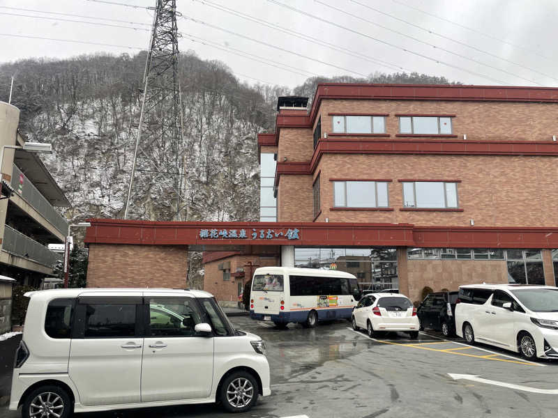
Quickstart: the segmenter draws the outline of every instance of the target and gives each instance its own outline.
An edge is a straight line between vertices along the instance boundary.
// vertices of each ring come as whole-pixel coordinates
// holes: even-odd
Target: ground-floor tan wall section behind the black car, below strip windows
[[[433,291],[457,291],[464,284],[507,284],[506,261],[479,260],[407,260],[409,288],[401,293],[413,302],[421,301],[423,288]],[[407,293],[406,293],[407,292]]]

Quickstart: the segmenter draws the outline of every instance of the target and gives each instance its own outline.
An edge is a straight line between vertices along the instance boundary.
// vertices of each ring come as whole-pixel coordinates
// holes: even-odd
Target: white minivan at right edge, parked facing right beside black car
[[[475,341],[527,359],[558,358],[558,288],[518,284],[460,286],[455,327]]]

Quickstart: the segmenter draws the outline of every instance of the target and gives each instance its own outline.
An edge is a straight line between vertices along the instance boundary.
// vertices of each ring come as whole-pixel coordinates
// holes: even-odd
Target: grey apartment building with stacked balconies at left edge
[[[38,287],[62,256],[47,246],[68,235],[68,222],[56,207],[70,203],[38,155],[22,148],[27,139],[17,129],[19,121],[19,109],[0,102],[0,274]]]

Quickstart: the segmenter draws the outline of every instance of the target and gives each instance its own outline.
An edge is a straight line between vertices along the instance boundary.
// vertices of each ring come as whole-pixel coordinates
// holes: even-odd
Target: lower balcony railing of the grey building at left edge
[[[2,241],[2,249],[15,256],[29,258],[39,264],[52,267],[56,261],[62,258],[62,254],[50,251],[40,242],[32,240],[27,235],[15,231],[10,226],[4,226],[4,238]]]

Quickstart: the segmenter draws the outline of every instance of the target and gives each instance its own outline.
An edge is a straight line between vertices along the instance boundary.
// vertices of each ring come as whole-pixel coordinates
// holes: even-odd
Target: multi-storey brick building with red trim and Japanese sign
[[[228,301],[273,264],[336,268],[412,300],[555,284],[558,88],[319,84],[307,103],[280,98],[276,132],[258,135],[260,222],[93,220],[89,284],[96,251],[118,243],[206,251],[206,290]]]

